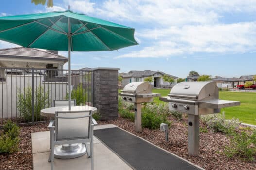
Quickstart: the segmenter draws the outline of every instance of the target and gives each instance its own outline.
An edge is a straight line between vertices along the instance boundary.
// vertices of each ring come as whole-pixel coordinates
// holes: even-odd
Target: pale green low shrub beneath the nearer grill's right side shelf
[[[213,129],[214,132],[222,132],[225,134],[231,133],[240,124],[239,119],[237,118],[232,118],[231,120],[227,120],[225,118],[225,112],[222,112],[221,114],[215,114],[212,118],[211,116],[209,116],[209,117],[205,117],[204,119],[206,119],[206,121],[204,120],[205,121],[204,123],[209,128]]]

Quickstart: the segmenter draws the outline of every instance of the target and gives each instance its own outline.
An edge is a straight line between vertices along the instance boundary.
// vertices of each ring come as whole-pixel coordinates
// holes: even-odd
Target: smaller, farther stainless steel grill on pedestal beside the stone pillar
[[[119,95],[126,102],[134,103],[135,130],[142,131],[141,127],[141,103],[152,102],[153,97],[161,96],[159,93],[152,93],[149,82],[132,82],[121,90]]]

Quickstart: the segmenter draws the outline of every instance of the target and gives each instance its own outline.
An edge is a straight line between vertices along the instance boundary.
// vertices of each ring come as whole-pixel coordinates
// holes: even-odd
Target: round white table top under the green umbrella
[[[85,106],[71,106],[71,111],[89,111],[92,110],[92,113],[97,113],[96,107],[91,107],[88,105]],[[41,110],[41,115],[46,117],[54,117],[56,111],[68,111],[68,106],[62,107],[49,107]]]

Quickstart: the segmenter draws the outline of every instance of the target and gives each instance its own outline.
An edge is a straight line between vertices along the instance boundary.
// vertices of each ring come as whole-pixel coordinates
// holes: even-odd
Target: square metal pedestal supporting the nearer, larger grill
[[[199,155],[199,115],[188,114],[188,154]]]

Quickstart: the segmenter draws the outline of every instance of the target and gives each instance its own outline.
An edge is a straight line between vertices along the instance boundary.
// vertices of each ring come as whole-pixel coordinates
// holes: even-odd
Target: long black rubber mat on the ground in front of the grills
[[[136,170],[200,170],[117,127],[94,130],[94,135]]]

